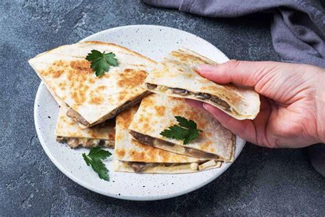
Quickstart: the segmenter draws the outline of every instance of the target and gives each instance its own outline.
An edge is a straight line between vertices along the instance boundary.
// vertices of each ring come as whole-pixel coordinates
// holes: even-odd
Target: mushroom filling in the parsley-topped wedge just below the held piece
[[[134,139],[140,141],[142,144],[147,144],[148,146],[155,146],[155,147],[161,147],[161,146],[167,146],[167,147],[172,147],[176,146],[176,144],[173,144],[169,141],[164,141],[162,139],[156,139],[154,137],[150,137],[148,135],[143,135],[142,133],[135,132],[133,130],[130,130],[130,134]],[[182,146],[181,146],[182,147]],[[173,150],[173,148],[171,148]],[[176,150],[176,149],[175,149]],[[174,151],[175,151],[174,150]],[[204,159],[219,159],[219,156],[207,153],[207,152],[202,152],[201,150],[197,150],[194,148],[187,148],[187,147],[182,147],[180,154],[183,155],[191,155],[193,157],[197,158],[204,158]]]

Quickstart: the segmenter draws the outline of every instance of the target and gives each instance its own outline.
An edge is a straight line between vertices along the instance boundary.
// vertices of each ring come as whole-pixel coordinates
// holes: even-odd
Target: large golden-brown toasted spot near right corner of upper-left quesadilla
[[[143,84],[145,78],[147,78],[147,72],[143,70],[125,69],[120,73],[117,85],[123,88],[134,88]]]

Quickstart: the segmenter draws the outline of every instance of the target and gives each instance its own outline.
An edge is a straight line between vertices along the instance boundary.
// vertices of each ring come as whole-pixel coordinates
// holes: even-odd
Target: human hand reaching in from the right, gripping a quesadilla
[[[261,95],[261,109],[253,120],[234,119],[210,104],[186,100],[211,113],[246,141],[269,148],[301,148],[325,142],[325,69],[230,60],[217,66],[200,65],[197,71],[219,84],[254,87]]]

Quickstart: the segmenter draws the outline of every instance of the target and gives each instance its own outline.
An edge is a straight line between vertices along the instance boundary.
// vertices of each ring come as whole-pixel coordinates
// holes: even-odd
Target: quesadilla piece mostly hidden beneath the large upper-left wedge
[[[56,122],[55,135],[57,141],[67,142],[71,148],[78,146],[92,148],[99,145],[114,148],[115,119],[82,129],[77,122],[66,115],[65,109],[61,107],[58,122]]]

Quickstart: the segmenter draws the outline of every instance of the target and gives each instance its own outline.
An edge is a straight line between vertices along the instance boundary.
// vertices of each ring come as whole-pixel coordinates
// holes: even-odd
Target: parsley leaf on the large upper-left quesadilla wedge
[[[86,56],[86,60],[91,62],[91,69],[95,70],[97,77],[104,75],[105,71],[109,71],[110,66],[116,67],[118,65],[113,52],[105,54],[105,52],[101,53],[96,49],[93,49]]]

